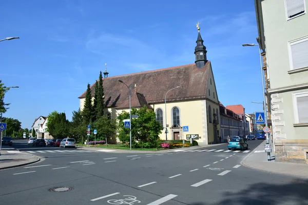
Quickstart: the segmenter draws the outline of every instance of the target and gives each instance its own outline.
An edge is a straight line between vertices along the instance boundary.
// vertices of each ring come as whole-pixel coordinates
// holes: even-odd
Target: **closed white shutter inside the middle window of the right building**
[[[308,39],[291,45],[293,69],[308,67]]]

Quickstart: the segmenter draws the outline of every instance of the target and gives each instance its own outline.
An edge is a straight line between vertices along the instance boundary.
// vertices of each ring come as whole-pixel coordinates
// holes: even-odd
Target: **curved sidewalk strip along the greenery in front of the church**
[[[219,145],[225,145],[226,143],[221,144],[213,144],[213,145],[205,145],[204,143],[200,143],[198,146],[191,146],[191,147],[180,147],[176,149],[166,149],[166,150],[158,150],[158,151],[146,151],[146,150],[120,150],[120,149],[109,149],[109,148],[94,148],[94,147],[87,147],[87,146],[78,146],[77,149],[81,150],[93,150],[93,151],[100,151],[100,152],[114,152],[114,153],[162,153],[162,152],[180,152],[184,150],[197,150],[200,148],[207,148],[207,147],[215,147]]]

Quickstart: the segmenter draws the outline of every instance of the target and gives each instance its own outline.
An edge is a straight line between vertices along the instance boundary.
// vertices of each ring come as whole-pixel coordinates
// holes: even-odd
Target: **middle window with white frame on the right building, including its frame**
[[[308,36],[290,42],[291,70],[308,67]]]

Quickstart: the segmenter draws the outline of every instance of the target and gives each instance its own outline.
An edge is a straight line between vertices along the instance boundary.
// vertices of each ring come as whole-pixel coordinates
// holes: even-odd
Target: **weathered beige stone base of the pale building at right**
[[[308,165],[308,139],[276,139],[275,161]]]

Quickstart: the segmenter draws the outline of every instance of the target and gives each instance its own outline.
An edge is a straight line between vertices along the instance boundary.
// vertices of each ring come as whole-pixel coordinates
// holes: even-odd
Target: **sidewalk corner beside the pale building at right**
[[[241,164],[256,170],[286,174],[308,178],[308,165],[289,162],[276,162],[275,153],[271,153],[271,161],[267,161],[267,153],[264,152],[264,140],[253,152],[248,154]]]

